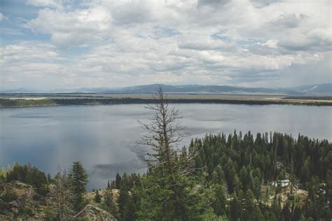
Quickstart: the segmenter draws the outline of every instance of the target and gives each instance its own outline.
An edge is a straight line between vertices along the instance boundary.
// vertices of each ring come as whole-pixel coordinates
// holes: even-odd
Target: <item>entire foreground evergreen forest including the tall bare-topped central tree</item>
[[[278,132],[187,134],[162,92],[148,135],[144,174],[117,174],[86,192],[80,162],[55,177],[14,164],[0,174],[0,219],[42,220],[331,220],[332,144]]]

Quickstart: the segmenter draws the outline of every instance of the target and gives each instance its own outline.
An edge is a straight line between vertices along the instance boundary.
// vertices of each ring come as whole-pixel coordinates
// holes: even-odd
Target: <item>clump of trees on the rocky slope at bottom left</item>
[[[17,181],[31,185],[34,191],[24,190]],[[87,183],[88,173],[80,162],[74,162],[69,173],[58,169],[54,178],[29,164],[15,163],[0,172],[0,219],[1,215],[31,219],[43,206],[43,219],[70,220],[88,204],[84,197]]]

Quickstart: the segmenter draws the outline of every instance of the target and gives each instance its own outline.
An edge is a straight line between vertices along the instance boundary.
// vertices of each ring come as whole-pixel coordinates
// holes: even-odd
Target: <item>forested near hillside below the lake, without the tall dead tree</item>
[[[184,164],[191,150],[198,154]],[[155,220],[164,216],[172,220],[328,220],[332,215],[331,161],[332,145],[326,140],[279,133],[258,133],[256,138],[250,132],[235,131],[228,136],[209,134],[191,141],[188,148],[179,152],[179,158],[174,159],[174,164],[184,164],[186,171],[191,171],[178,177],[181,177],[179,191],[184,205],[181,217],[163,213],[162,202],[169,199],[167,195],[172,197],[172,191],[163,184],[168,182],[167,170],[155,169],[144,175],[117,174],[104,190],[83,192],[83,204],[72,217],[74,220],[115,220],[114,217]],[[0,219],[51,220],[57,216],[54,190],[59,177],[48,176],[46,180],[45,173],[38,169],[18,164],[0,175]],[[172,201],[168,204],[172,206]]]

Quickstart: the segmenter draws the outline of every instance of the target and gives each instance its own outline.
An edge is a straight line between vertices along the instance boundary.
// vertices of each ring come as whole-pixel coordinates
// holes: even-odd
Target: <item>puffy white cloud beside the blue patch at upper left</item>
[[[81,45],[85,42],[101,40],[109,30],[111,17],[100,6],[87,10],[39,10],[38,17],[30,20],[25,27],[35,32],[50,34],[55,45]]]

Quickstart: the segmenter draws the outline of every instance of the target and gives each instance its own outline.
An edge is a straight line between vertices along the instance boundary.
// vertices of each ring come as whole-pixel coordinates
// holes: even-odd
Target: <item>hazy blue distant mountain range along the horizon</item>
[[[304,85],[300,87],[266,88],[237,87],[230,85],[160,85],[169,94],[292,94],[312,96],[332,96],[332,83]],[[20,88],[17,90],[2,90],[3,94],[18,93],[97,93],[97,94],[152,94],[158,89],[157,84],[138,85],[133,87],[81,87],[73,90],[38,91]]]

